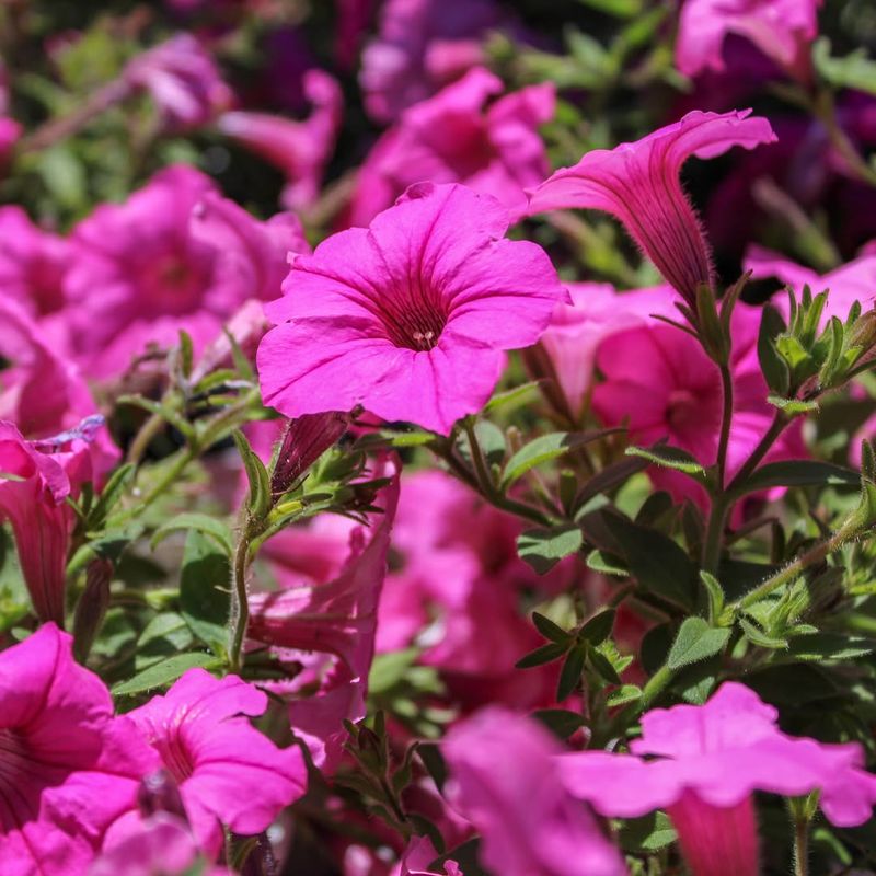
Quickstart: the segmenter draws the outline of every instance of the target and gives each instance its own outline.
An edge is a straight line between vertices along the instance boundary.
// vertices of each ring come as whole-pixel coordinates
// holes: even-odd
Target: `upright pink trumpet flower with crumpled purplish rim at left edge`
[[[76,517],[67,504],[92,479],[89,442],[103,426],[25,441],[0,420],[0,519],[12,527],[24,583],[42,621],[64,626],[67,553]]]

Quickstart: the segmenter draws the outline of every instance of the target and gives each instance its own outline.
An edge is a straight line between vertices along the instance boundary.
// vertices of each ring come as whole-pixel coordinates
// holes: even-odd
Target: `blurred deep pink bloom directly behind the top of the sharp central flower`
[[[523,189],[550,172],[539,125],[553,117],[555,89],[531,85],[502,94],[502,80],[482,67],[406,110],[359,171],[349,223],[367,226],[407,186],[464,183],[500,200],[512,217],[527,207]]]

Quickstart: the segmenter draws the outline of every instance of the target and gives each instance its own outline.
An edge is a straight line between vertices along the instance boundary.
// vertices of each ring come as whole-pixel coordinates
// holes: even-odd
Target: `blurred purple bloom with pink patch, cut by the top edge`
[[[494,0],[387,0],[359,74],[371,117],[392,122],[482,64],[481,41],[505,23]]]

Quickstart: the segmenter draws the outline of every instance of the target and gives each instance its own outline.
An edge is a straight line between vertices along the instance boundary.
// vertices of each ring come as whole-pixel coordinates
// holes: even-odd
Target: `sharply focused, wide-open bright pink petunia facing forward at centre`
[[[508,212],[461,185],[413,186],[368,230],[298,256],[258,348],[265,403],[289,417],[356,405],[448,434],[489,397],[503,350],[538,341],[567,295]]]

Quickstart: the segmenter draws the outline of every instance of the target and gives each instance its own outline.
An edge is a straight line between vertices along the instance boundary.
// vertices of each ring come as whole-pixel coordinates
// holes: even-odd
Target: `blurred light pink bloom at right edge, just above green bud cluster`
[[[845,320],[855,301],[860,301],[864,310],[869,310],[876,298],[876,254],[862,255],[827,274],[818,274],[777,253],[752,246],[746,256],[745,267],[756,278],[777,277],[798,296],[806,285],[812,295],[828,290],[822,323],[831,316]],[[782,303],[781,299],[779,303]]]

